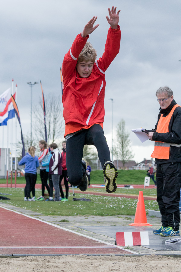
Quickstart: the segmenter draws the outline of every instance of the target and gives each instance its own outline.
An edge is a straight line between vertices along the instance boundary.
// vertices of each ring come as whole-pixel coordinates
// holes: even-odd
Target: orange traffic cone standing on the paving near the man
[[[139,191],[138,203],[136,207],[134,223],[129,224],[130,226],[152,226],[147,223],[146,211],[144,206],[143,192]]]

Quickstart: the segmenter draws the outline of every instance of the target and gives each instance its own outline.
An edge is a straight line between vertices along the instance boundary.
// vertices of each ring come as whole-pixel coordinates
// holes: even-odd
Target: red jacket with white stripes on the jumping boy
[[[76,64],[88,37],[83,38],[79,34],[75,38],[62,64],[65,124],[76,122],[83,127],[104,120],[105,71],[119,53],[121,31],[119,26],[118,29],[109,28],[102,58],[95,61],[89,77],[81,78]]]

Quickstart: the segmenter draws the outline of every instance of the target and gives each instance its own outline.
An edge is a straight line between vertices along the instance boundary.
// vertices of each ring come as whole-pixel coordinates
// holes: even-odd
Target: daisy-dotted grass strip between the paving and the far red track
[[[149,190],[149,189],[147,189]],[[23,188],[0,188],[1,193],[10,193],[7,196],[10,200],[1,200],[3,203],[11,204],[16,207],[31,210],[32,212],[40,212],[42,215],[54,216],[80,216],[80,215],[135,215],[137,199],[129,199],[124,197],[97,196],[91,194],[75,194],[76,198],[88,198],[91,202],[73,201],[72,193],[69,194],[66,202],[52,201],[24,201]],[[148,192],[148,191],[147,191]],[[40,189],[36,189],[36,196],[41,194]],[[154,200],[145,200],[145,209],[158,210],[157,202]]]

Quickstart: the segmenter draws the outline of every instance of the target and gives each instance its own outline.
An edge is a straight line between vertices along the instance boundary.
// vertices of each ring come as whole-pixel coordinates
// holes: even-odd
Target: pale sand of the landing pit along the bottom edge
[[[1,271],[7,272],[179,272],[181,257],[145,255],[0,258]]]

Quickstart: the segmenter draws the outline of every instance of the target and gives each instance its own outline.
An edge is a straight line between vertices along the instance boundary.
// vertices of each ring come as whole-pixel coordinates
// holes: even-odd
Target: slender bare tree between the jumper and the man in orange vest
[[[125,163],[131,160],[134,155],[132,154],[129,140],[129,133],[125,130],[125,121],[123,119],[117,125],[116,130],[116,142],[114,144],[114,154],[117,160],[121,160],[123,169],[125,169]]]

